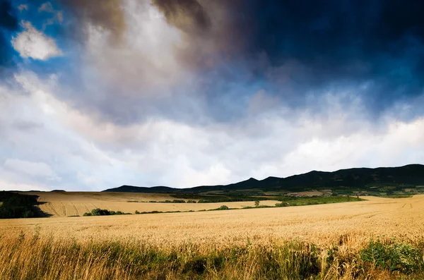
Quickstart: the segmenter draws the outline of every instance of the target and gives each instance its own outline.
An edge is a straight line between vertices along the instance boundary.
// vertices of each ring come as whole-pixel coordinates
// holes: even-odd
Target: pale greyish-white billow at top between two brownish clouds
[[[111,44],[107,30],[87,23],[86,62],[102,83],[122,95],[134,90],[137,95],[148,95],[146,89],[152,87],[151,95],[165,95],[167,85],[187,80],[175,59],[182,33],[167,24],[151,1],[124,1],[123,8],[127,29],[122,42]]]

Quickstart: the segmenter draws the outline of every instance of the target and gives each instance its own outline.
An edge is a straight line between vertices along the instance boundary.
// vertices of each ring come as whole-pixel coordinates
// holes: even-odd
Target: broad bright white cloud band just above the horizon
[[[346,109],[333,97],[324,97],[332,110],[322,118],[284,108],[204,126],[168,118],[119,126],[59,99],[69,89],[54,76],[15,80],[22,92],[0,87],[0,189],[189,187],[424,159],[424,118],[371,123],[358,118],[360,104]]]

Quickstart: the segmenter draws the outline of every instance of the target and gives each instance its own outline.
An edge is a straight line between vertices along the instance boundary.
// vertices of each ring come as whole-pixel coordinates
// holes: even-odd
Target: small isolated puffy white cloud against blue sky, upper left
[[[51,57],[62,55],[62,51],[57,47],[54,39],[35,29],[28,21],[24,21],[22,25],[25,31],[20,32],[11,40],[13,48],[21,57],[46,61]]]

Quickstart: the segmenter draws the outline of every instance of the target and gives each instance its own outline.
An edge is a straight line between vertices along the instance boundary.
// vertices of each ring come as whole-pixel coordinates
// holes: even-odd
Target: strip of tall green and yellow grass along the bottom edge
[[[150,245],[54,240],[21,233],[0,240],[1,279],[423,279],[419,243],[370,241],[343,250],[291,241],[253,245]]]

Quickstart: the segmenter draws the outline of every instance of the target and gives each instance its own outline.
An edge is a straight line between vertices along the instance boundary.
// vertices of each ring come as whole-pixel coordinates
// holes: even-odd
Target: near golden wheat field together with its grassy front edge
[[[0,260],[32,273],[38,271],[34,262],[59,265],[64,273],[76,271],[82,279],[422,279],[423,267],[417,266],[423,262],[424,195],[365,198],[301,207],[4,220]],[[129,197],[115,199],[131,204],[123,202]],[[93,198],[88,195],[87,201]],[[23,247],[13,249],[10,244]],[[27,257],[20,257],[23,252]],[[52,259],[45,259],[46,252]],[[376,252],[382,252],[381,260]],[[385,259],[389,252],[406,256],[393,266],[396,258]],[[5,254],[8,258],[1,257]],[[90,255],[99,263],[86,264]],[[79,266],[73,267],[70,260]],[[73,279],[59,272],[37,273],[27,279]],[[14,275],[5,268],[0,274]]]

